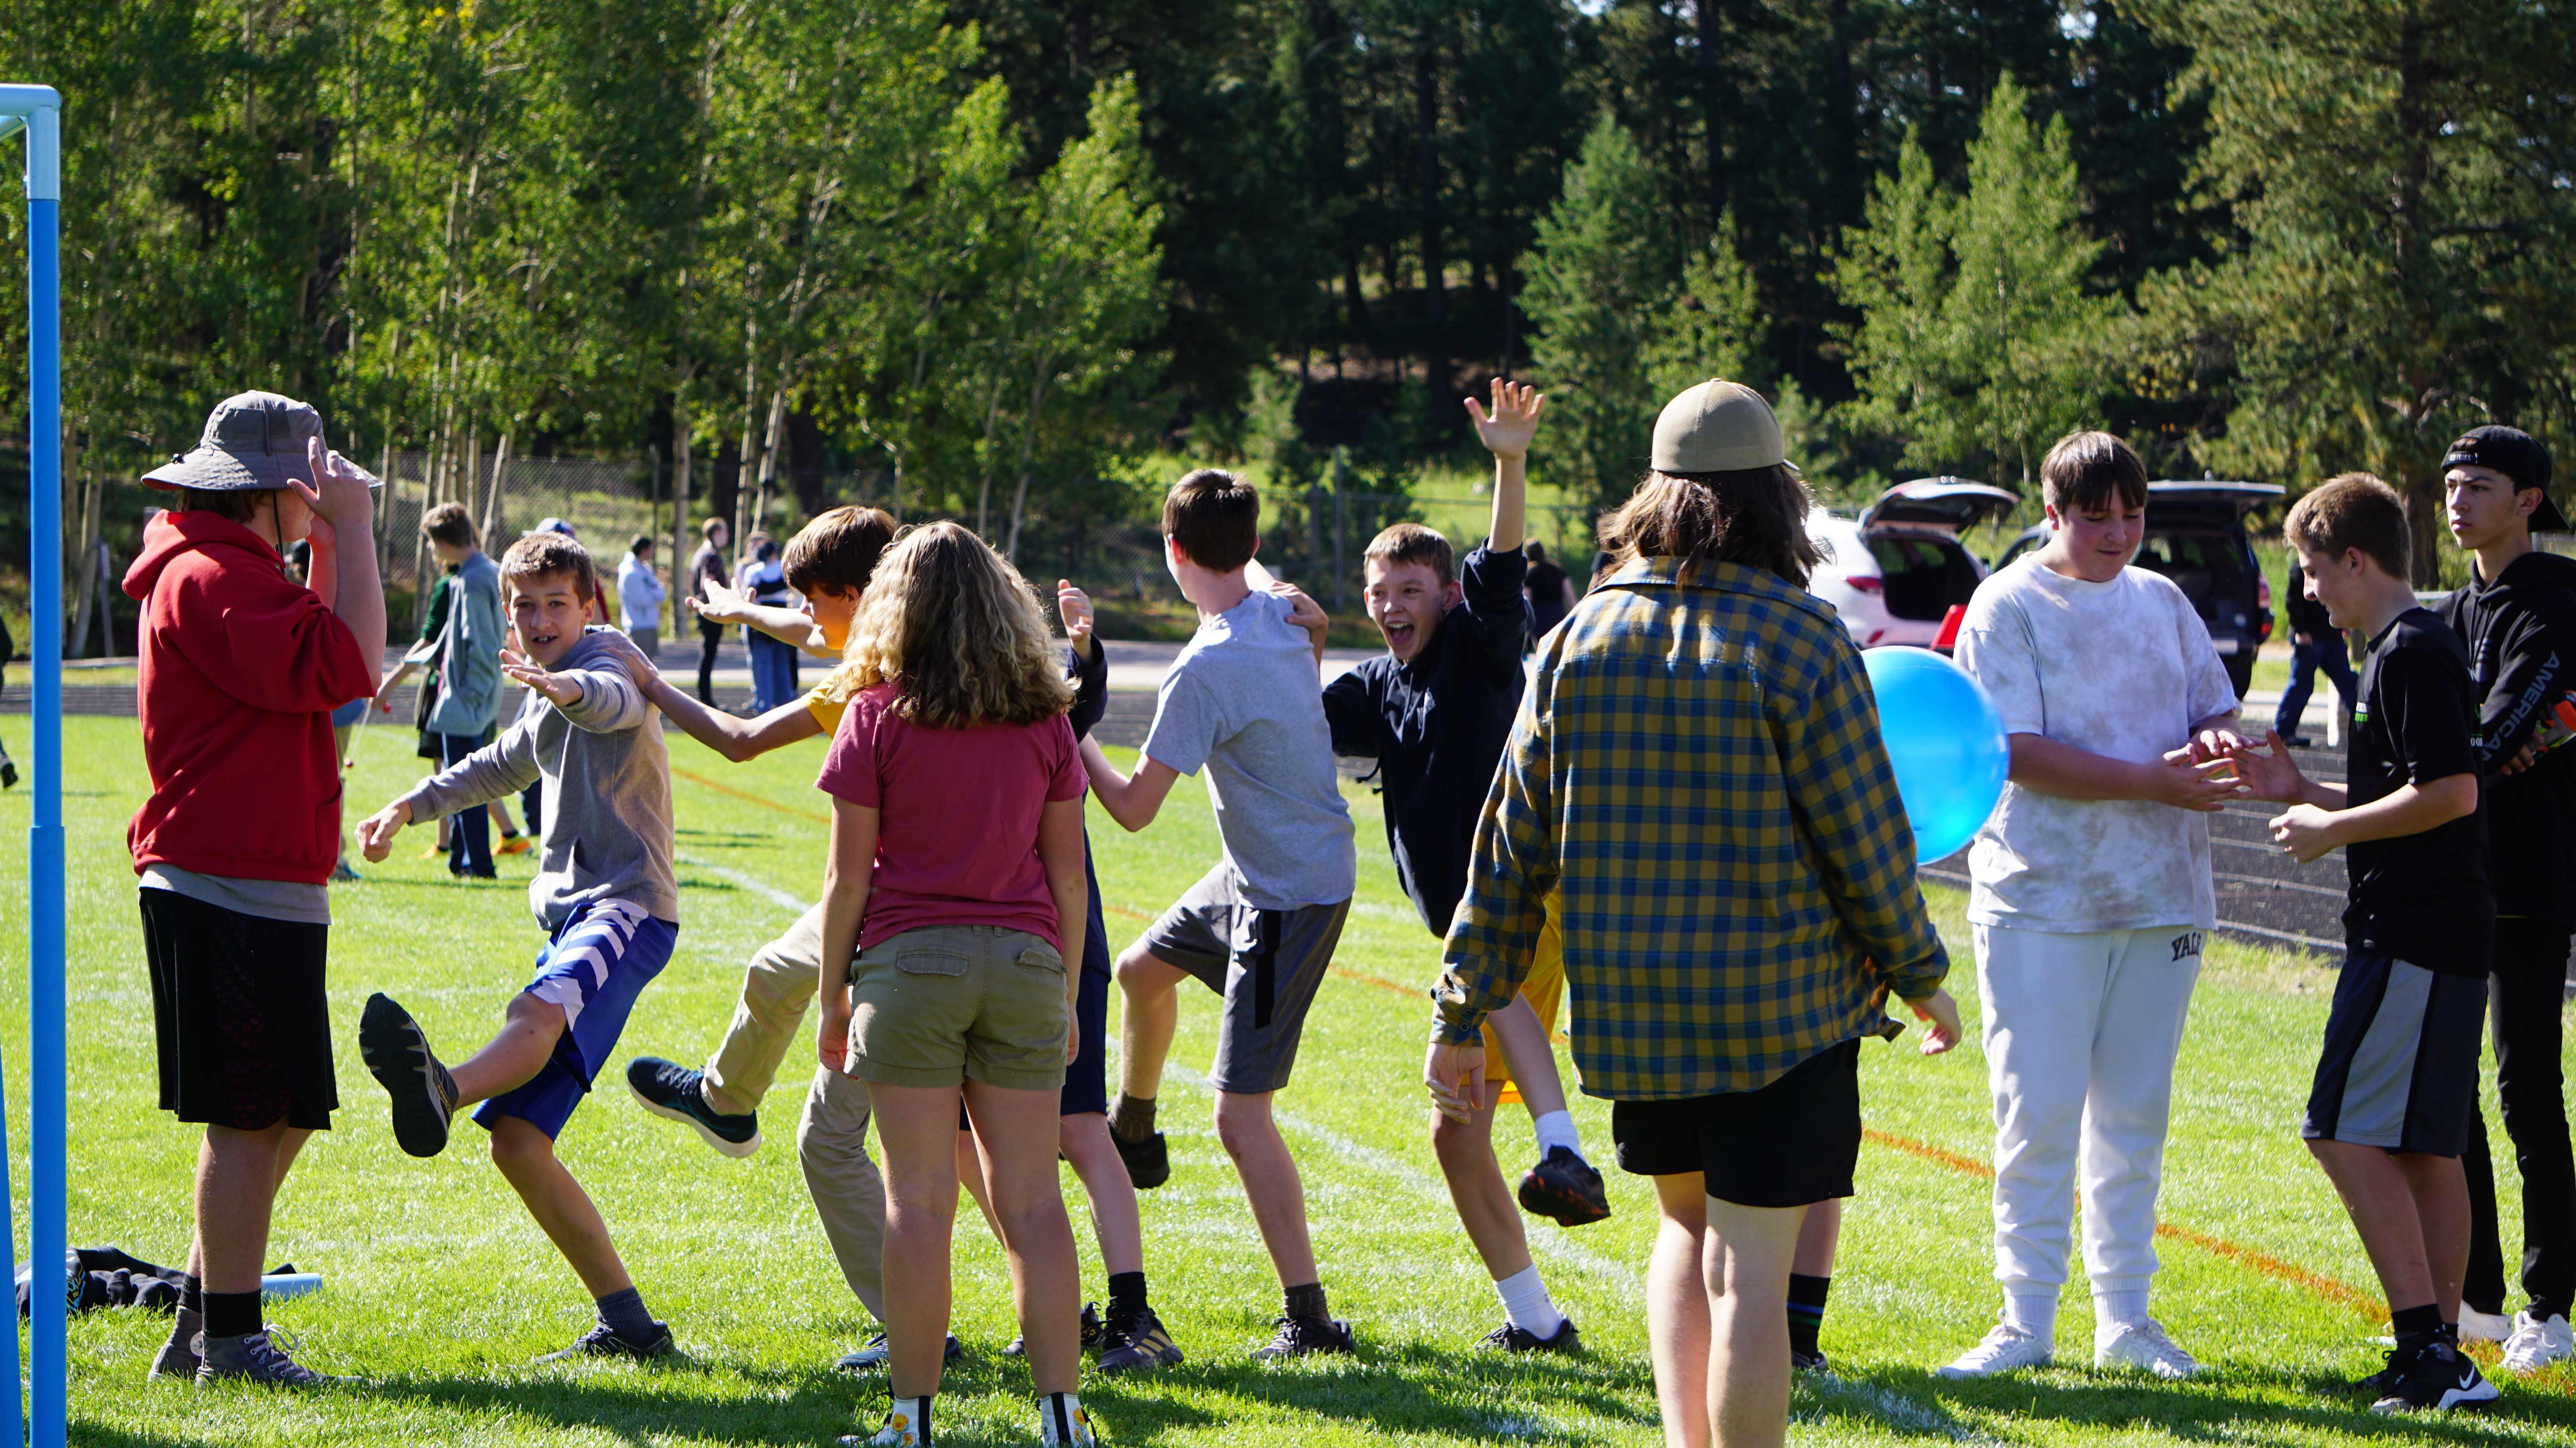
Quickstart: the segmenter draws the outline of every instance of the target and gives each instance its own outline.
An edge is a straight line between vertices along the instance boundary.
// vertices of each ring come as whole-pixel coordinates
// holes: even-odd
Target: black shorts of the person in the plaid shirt
[[[1860,1165],[1860,1041],[1826,1046],[1762,1090],[1610,1103],[1623,1172],[1703,1172],[1736,1206],[1852,1196]]]

